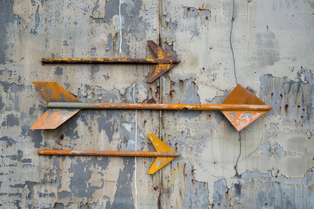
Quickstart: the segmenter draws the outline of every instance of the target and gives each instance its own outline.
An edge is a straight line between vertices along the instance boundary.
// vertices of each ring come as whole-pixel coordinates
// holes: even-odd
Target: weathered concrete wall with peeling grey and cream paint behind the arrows
[[[314,208],[314,2],[36,1],[0,4],[0,208]],[[52,64],[43,57],[181,60]],[[273,109],[238,132],[217,111],[82,110],[30,130],[47,110],[32,81],[82,102],[221,103],[242,84]],[[38,149],[153,150],[181,156],[40,156]],[[136,137],[135,137],[136,136]]]

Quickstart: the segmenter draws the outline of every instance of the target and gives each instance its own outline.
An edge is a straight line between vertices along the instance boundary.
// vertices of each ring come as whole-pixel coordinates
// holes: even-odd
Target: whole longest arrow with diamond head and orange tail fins
[[[81,103],[56,82],[33,82],[33,84],[49,102],[49,108],[30,129],[55,129],[81,109],[137,109],[219,110],[240,131],[272,109],[240,84],[222,104]]]

